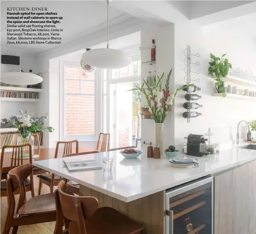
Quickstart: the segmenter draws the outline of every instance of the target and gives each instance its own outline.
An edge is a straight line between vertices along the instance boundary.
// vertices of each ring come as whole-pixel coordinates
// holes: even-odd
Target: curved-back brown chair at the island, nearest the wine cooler
[[[56,226],[54,234],[62,234],[64,218],[70,221],[69,234],[139,234],[143,225],[111,207],[99,208],[95,197],[65,193],[65,182],[55,190]]]

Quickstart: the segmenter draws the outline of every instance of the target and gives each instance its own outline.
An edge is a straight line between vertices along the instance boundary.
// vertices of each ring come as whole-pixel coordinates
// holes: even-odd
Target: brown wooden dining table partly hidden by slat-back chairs
[[[87,148],[87,147],[78,147],[78,152],[93,152],[96,151],[94,148]],[[76,153],[76,147],[72,147],[72,153]],[[44,149],[35,149],[34,155],[39,155],[38,157],[35,157],[32,159],[32,162],[35,161],[41,161],[41,160],[47,160],[47,159],[54,159],[55,155],[55,148],[44,148]],[[64,155],[64,147],[59,146],[58,148],[58,155],[57,157],[63,157]],[[11,169],[11,162],[12,162],[12,151],[5,152],[4,153],[4,160],[3,160],[3,170],[2,173],[8,173]],[[23,159],[23,164],[29,163],[29,159]],[[47,171],[42,170],[38,167],[33,167],[33,174],[41,174]]]

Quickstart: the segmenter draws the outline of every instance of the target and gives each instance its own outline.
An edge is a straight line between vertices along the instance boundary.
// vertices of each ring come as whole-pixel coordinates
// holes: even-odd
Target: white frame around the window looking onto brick
[[[94,134],[65,134],[65,66],[80,67],[80,62],[62,61],[60,62],[60,140],[77,139],[79,141],[97,141],[99,133],[102,129],[102,69],[96,69],[94,74],[94,97],[95,97],[95,113],[94,113]],[[88,95],[88,94],[85,94]],[[93,95],[92,95],[93,96]]]

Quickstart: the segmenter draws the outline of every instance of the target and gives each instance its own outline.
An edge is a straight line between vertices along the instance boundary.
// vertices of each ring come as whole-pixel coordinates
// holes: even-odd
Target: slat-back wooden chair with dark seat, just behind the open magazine
[[[71,140],[71,141],[58,141],[57,145],[56,145],[56,149],[55,149],[55,154],[54,154],[54,158],[58,157],[58,148],[60,144],[64,144],[64,150],[63,150],[63,154],[67,155],[67,154],[72,154],[72,143],[76,144],[76,153],[78,153],[78,140]],[[39,184],[38,184],[38,195],[41,194],[41,187],[42,184],[46,184],[47,186],[50,187],[50,193],[53,192],[53,187],[57,186],[59,181],[63,178],[61,178],[58,175],[55,175],[53,173],[48,173],[48,174],[41,174],[37,176],[39,178]]]

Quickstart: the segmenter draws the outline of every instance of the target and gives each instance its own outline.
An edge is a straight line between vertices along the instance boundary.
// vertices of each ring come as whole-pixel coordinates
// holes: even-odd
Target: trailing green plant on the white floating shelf
[[[227,58],[224,58],[227,54],[221,56],[221,58],[214,56],[210,53],[211,61],[209,62],[208,76],[215,76],[215,89],[218,93],[221,93],[222,97],[226,97],[227,88],[224,86],[224,80],[222,77],[227,77],[229,69],[232,68],[231,63]]]

